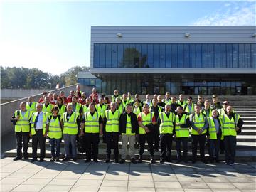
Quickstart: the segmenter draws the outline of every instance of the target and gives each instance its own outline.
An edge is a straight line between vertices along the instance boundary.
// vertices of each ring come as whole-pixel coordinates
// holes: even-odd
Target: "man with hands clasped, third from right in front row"
[[[206,163],[205,159],[205,142],[206,131],[208,127],[207,117],[200,112],[200,105],[195,106],[195,113],[189,115],[191,123],[191,137],[192,137],[192,163],[196,163],[197,146],[199,142],[200,157],[203,163]]]

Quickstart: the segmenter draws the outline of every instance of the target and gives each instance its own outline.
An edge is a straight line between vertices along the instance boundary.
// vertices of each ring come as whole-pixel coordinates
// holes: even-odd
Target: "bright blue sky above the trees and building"
[[[255,26],[256,1],[0,2],[0,65],[90,66],[91,26]]]

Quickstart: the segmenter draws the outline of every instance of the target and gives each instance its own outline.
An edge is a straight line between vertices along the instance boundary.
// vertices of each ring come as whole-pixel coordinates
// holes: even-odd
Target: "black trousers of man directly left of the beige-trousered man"
[[[119,132],[106,132],[107,150],[106,156],[110,159],[111,149],[114,149],[114,159],[118,159]]]

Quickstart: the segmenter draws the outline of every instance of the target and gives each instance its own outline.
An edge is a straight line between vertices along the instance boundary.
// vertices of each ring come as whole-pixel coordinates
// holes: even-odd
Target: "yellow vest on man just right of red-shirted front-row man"
[[[174,117],[175,114],[170,112],[169,117],[167,117],[165,112],[159,112],[159,118],[161,124],[159,126],[160,134],[172,134],[174,130]]]

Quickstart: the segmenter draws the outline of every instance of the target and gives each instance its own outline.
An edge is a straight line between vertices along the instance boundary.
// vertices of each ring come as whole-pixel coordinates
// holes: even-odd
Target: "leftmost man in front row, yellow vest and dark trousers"
[[[23,157],[28,159],[28,139],[29,139],[29,119],[31,119],[32,112],[26,109],[26,102],[21,102],[20,110],[14,112],[12,122],[15,124],[15,134],[17,143],[17,156],[14,161],[22,159],[22,142],[23,142]]]

